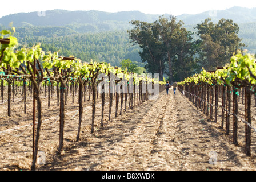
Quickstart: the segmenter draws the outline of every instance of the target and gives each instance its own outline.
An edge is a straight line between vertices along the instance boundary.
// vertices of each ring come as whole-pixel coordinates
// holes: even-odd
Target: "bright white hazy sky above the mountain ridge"
[[[181,15],[197,14],[208,10],[225,10],[233,6],[256,7],[256,1],[251,0],[12,0],[1,3],[0,18],[5,15],[46,11],[54,9],[63,10],[99,10],[107,12],[138,10],[149,14],[172,14]],[[10,8],[8,8],[10,7]]]

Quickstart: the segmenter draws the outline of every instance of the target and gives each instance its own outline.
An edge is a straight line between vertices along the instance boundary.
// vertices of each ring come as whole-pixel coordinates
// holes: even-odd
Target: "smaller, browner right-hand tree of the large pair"
[[[238,37],[239,27],[231,19],[221,19],[218,24],[211,22],[210,18],[197,24],[197,35],[201,38],[202,66],[205,69],[215,69],[229,63],[230,57],[237,49],[245,44]]]

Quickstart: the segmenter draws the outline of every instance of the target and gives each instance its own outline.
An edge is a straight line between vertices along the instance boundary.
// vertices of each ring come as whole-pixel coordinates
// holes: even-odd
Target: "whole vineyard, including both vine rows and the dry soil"
[[[1,169],[255,168],[251,55],[238,52],[166,96],[157,76],[82,63],[39,44],[17,50],[11,31],[1,31],[0,42]],[[222,154],[221,165],[211,164],[211,151]]]

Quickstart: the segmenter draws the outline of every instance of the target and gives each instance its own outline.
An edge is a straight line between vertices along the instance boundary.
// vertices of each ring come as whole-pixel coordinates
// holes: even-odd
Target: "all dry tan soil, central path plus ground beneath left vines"
[[[37,170],[255,170],[255,132],[252,133],[252,156],[245,156],[245,137],[239,135],[235,146],[231,135],[225,135],[220,123],[211,121],[180,92],[175,96],[159,94],[157,100],[147,100],[133,109],[122,111],[107,121],[108,99],[105,103],[104,126],[101,122],[101,102],[98,99],[95,131],[91,133],[91,101],[85,102],[81,137],[75,142],[78,129],[78,103],[69,96],[66,106],[64,146],[58,150],[57,98],[43,100],[43,125],[39,151],[46,156],[46,164],[37,164]],[[11,106],[12,115],[7,117],[7,105],[0,105],[0,170],[30,170],[32,158],[32,127],[8,130],[29,125],[32,119],[31,100],[27,114],[22,101]],[[115,103],[115,102],[114,102]],[[51,119],[50,119],[51,118]],[[48,120],[45,120],[48,119]],[[244,127],[244,123],[239,126]],[[10,135],[12,134],[12,135]]]

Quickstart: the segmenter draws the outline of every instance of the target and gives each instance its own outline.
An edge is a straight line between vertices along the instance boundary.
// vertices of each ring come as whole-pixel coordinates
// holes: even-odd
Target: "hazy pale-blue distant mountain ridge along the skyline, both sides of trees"
[[[145,14],[141,11],[119,11],[110,13],[106,11],[69,11],[69,10],[47,10],[42,12],[17,13],[2,16],[0,25],[9,26],[13,22],[15,27],[31,26],[67,26],[70,24],[99,24],[99,23],[121,23],[128,24],[131,20],[154,22],[159,16],[170,16],[170,14]],[[198,14],[182,14],[177,16],[185,24],[201,23],[204,19],[211,18],[217,22],[221,18],[233,19],[235,23],[256,22],[256,8],[234,6],[226,10],[209,10]]]

